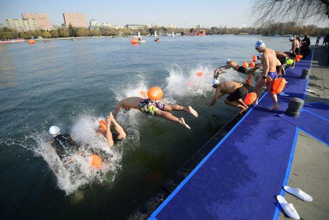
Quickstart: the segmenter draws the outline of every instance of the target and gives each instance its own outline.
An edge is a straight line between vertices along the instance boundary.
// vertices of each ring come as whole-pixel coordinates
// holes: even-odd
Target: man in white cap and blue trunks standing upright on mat
[[[298,43],[298,40],[296,40],[296,43]],[[260,95],[260,92],[262,91],[262,87],[264,84],[266,84],[267,91],[271,94],[273,103],[274,105],[269,108],[269,110],[275,110],[279,108],[278,104],[278,97],[276,94],[272,94],[272,87],[274,83],[274,79],[277,78],[277,56],[275,55],[275,51],[271,48],[267,48],[265,46],[265,43],[262,40],[258,40],[255,44],[256,50],[260,53],[262,52],[262,58],[261,58],[261,63],[263,64],[263,75],[262,77],[258,80],[256,86],[255,86],[255,92],[257,94],[257,99],[255,101],[255,104],[258,104],[258,98]]]

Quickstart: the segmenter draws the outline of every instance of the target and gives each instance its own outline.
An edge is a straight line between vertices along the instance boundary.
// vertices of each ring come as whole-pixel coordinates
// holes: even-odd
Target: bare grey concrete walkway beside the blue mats
[[[311,49],[314,55],[308,89],[315,92],[308,92],[305,102],[329,105],[328,52],[324,46]],[[300,188],[313,197],[313,201],[307,203],[285,194],[301,219],[329,220],[329,147],[302,131],[299,131],[288,186]],[[281,210],[279,220],[289,219]]]

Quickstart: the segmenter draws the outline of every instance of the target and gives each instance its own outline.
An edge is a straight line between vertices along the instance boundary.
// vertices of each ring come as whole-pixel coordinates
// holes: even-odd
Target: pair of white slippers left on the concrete
[[[284,186],[283,189],[286,192],[288,192],[288,193],[294,195],[295,197],[297,197],[301,200],[304,200],[306,202],[311,202],[313,200],[313,198],[309,194],[301,191],[298,188],[291,188],[291,187],[288,187],[288,186]],[[293,206],[293,204],[288,203],[283,196],[277,196],[277,200],[278,200],[280,206],[282,207],[283,211],[285,211],[285,213],[290,218],[296,219],[296,220],[301,219],[301,217],[298,215],[298,213],[297,213],[295,207]]]

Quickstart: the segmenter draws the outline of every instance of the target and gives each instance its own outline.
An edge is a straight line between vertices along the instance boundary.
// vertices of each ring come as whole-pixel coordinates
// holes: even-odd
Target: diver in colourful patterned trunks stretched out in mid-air
[[[188,129],[191,128],[185,123],[183,118],[177,118],[169,113],[169,111],[185,111],[195,117],[198,116],[197,112],[191,106],[183,107],[180,105],[165,105],[159,101],[153,101],[149,98],[144,99],[141,97],[128,97],[121,100],[113,113],[114,116],[118,114],[121,107],[123,107],[125,110],[129,110],[131,108],[139,109],[146,114],[165,118],[169,121],[176,122]]]

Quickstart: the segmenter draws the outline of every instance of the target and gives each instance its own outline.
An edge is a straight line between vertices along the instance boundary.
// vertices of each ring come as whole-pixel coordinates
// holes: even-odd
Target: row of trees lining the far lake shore
[[[295,22],[285,22],[285,23],[274,23],[268,22],[262,27],[211,27],[205,28],[207,33],[210,34],[239,34],[239,33],[248,33],[252,35],[290,35],[290,34],[307,34],[310,36],[317,36],[319,34],[327,35],[329,33],[328,27],[317,27],[316,25],[298,25]],[[158,34],[161,33],[175,33],[188,31],[183,28],[165,28],[165,27],[153,27],[153,28],[144,28],[139,30],[131,30],[129,28],[104,28],[104,29],[88,29],[85,27],[61,27],[55,30],[33,30],[25,32],[17,32],[15,30],[10,30],[8,28],[3,28],[0,31],[0,39],[12,39],[12,38],[25,38],[30,39],[34,37],[82,37],[82,36],[128,36],[136,34],[136,31],[140,31],[142,35],[154,34],[157,31]]]

